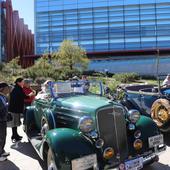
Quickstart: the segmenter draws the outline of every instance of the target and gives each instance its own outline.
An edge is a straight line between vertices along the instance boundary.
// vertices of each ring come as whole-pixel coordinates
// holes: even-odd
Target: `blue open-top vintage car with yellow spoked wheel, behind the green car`
[[[161,131],[170,130],[170,88],[155,85],[127,85],[123,88],[123,103],[128,109],[138,109],[150,116]]]

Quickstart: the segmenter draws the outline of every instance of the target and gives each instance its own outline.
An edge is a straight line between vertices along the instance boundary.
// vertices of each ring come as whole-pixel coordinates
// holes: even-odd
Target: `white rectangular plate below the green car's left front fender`
[[[84,156],[82,158],[73,159],[72,170],[86,170],[97,165],[96,154]]]

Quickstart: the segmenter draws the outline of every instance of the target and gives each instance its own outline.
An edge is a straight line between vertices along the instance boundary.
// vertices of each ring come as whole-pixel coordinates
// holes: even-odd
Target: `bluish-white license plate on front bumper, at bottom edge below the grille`
[[[139,170],[143,168],[143,157],[125,162],[126,170]]]

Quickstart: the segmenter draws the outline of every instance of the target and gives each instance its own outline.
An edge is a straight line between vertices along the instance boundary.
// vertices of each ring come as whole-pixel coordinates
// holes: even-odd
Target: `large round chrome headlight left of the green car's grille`
[[[90,116],[84,116],[79,121],[79,129],[82,132],[88,133],[94,130],[94,122]]]

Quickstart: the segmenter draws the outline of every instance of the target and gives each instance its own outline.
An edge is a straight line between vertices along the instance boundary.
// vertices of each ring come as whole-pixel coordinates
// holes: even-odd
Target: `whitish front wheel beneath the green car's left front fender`
[[[49,148],[48,155],[47,155],[47,170],[57,170],[57,169],[58,168],[55,163],[54,154],[51,148]]]

